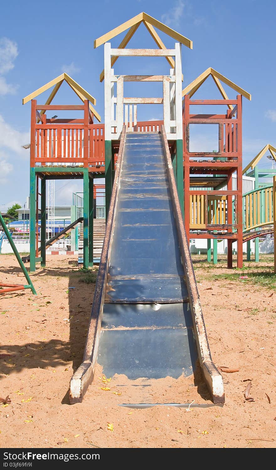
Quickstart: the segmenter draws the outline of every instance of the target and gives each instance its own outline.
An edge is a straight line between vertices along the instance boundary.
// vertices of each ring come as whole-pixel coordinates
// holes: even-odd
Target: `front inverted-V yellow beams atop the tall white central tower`
[[[94,48],[101,46],[102,44],[104,44],[104,42],[107,42],[118,34],[120,34],[121,32],[126,31],[128,28],[134,26],[134,24],[141,23],[141,21],[146,21],[152,26],[158,28],[160,31],[163,31],[165,34],[168,34],[176,41],[181,42],[181,44],[184,44],[190,49],[193,49],[193,41],[185,38],[185,36],[182,36],[182,34],[179,34],[177,31],[172,30],[172,28],[169,28],[165,24],[161,23],[160,21],[156,20],[152,16],[147,15],[144,12],[139,13],[139,15],[136,15],[125,23],[120,24],[119,26],[117,26],[117,28],[114,28],[112,31],[109,31],[100,38],[95,39]]]

